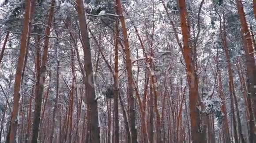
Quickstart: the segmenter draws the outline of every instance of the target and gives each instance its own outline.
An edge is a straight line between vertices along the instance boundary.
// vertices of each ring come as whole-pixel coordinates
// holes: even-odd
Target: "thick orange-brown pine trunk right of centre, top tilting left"
[[[189,84],[189,108],[190,108],[190,122],[192,132],[192,143],[203,143],[201,141],[201,129],[200,129],[200,113],[197,109],[199,102],[198,95],[198,78],[196,70],[192,64],[192,50],[189,47],[189,32],[186,22],[187,10],[185,0],[179,0],[180,14],[181,14],[181,30],[184,43],[184,61],[187,68],[187,77]]]

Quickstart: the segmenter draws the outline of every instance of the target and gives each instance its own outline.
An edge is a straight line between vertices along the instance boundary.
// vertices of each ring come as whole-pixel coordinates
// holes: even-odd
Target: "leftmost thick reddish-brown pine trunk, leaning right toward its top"
[[[15,83],[14,83],[14,100],[13,100],[13,109],[11,113],[11,124],[10,124],[10,136],[8,143],[15,143],[17,128],[18,128],[18,114],[19,114],[19,98],[20,98],[20,86],[22,79],[22,70],[24,65],[24,59],[26,55],[26,45],[29,33],[29,22],[30,22],[30,8],[31,8],[31,0],[26,0],[26,10],[24,15],[24,23],[23,23],[23,33],[21,36],[21,44],[20,44],[20,54],[19,61],[17,64],[16,74],[15,74]]]

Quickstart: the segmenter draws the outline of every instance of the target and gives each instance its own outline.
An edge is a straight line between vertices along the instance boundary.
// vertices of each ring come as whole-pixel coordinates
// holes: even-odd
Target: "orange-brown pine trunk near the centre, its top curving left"
[[[126,68],[127,68],[127,78],[128,78],[128,98],[129,98],[129,117],[130,117],[130,125],[131,125],[131,137],[132,143],[137,143],[137,129],[136,129],[136,118],[135,118],[135,99],[133,97],[133,78],[132,78],[132,62],[130,56],[130,46],[128,41],[128,33],[126,29],[126,24],[123,15],[123,9],[121,0],[116,0],[116,5],[118,9],[118,15],[120,15],[120,21],[123,29],[124,34],[124,52],[126,57]]]

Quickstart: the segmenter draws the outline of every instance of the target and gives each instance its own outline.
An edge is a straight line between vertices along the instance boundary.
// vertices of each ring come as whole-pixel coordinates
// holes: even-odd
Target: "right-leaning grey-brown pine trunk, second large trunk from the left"
[[[40,79],[38,89],[36,89],[36,96],[35,96],[35,114],[34,114],[34,122],[33,122],[33,134],[32,134],[32,143],[38,143],[38,132],[39,132],[39,125],[40,125],[40,115],[41,115],[41,105],[42,105],[42,96],[45,87],[45,78],[46,78],[46,62],[47,62],[47,55],[49,49],[49,35],[53,21],[53,14],[54,14],[54,7],[55,7],[55,0],[51,0],[51,7],[49,11],[49,19],[48,25],[45,29],[45,42],[44,42],[44,50],[42,56],[42,63],[40,69]]]

